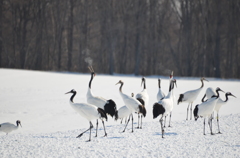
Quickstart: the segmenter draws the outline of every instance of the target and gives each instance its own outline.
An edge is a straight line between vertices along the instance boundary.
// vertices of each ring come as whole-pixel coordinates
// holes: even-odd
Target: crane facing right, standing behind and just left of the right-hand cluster
[[[189,106],[190,106],[190,119],[192,119],[192,104],[197,99],[197,96],[199,95],[200,91],[203,89],[203,86],[204,86],[203,81],[208,81],[208,80],[206,80],[204,77],[202,77],[200,79],[200,81],[202,82],[202,85],[201,85],[200,88],[182,93],[182,94],[180,94],[180,96],[178,98],[178,104],[181,103],[181,102],[187,102],[188,103],[186,120],[188,120]]]

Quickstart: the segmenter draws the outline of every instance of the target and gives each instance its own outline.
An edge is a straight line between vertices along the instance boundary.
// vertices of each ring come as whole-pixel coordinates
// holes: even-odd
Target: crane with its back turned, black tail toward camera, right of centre
[[[175,79],[170,81],[168,95],[164,99],[158,101],[157,103],[155,103],[153,105],[153,119],[155,119],[159,115],[161,115],[159,122],[160,122],[161,130],[162,130],[162,138],[164,135],[164,129],[163,129],[163,123],[162,123],[163,117],[168,116],[173,109],[172,90],[174,89],[174,83],[176,84]]]

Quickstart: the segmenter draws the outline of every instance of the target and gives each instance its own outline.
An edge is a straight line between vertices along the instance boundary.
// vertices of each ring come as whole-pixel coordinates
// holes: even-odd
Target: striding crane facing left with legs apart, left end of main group
[[[106,112],[103,109],[101,109],[99,107],[96,107],[96,106],[94,106],[92,104],[88,104],[88,103],[74,103],[73,99],[74,99],[75,95],[77,94],[77,92],[74,89],[72,89],[71,91],[69,91],[69,92],[67,92],[65,94],[68,94],[68,93],[72,93],[72,96],[71,96],[70,101],[69,101],[71,107],[76,112],[78,112],[82,117],[86,118],[89,121],[89,123],[90,123],[89,129],[87,129],[86,131],[80,133],[77,136],[77,138],[81,137],[85,132],[90,130],[89,140],[88,141],[91,141],[91,129],[93,128],[93,125],[92,125],[91,121],[92,120],[96,120],[96,119],[101,119],[102,120],[104,132],[105,132],[104,136],[107,136],[107,133],[106,133],[106,130],[105,130],[104,121],[103,121],[103,119],[105,119],[107,121]]]

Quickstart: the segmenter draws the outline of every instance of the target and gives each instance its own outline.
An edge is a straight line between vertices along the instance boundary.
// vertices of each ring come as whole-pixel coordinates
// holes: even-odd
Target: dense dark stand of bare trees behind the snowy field
[[[240,78],[239,0],[1,0],[0,67]]]

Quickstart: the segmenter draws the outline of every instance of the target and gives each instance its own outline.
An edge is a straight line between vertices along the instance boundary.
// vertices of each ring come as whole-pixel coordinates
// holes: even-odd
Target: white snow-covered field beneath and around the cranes
[[[230,97],[227,105],[220,110],[220,128],[223,134],[203,135],[203,119],[186,121],[187,103],[176,104],[178,96],[187,90],[201,86],[199,78],[177,78],[175,106],[172,127],[165,130],[161,138],[159,118],[152,119],[152,105],[158,91],[157,77],[146,77],[150,96],[147,116],[143,129],[129,125],[125,133],[120,121],[109,117],[105,123],[108,133],[104,135],[99,123],[98,137],[85,142],[89,133],[76,138],[89,128],[86,119],[77,114],[69,105],[70,94],[78,93],[75,102],[86,102],[89,74],[41,72],[14,69],[0,69],[0,123],[21,120],[22,128],[5,135],[0,132],[1,157],[240,157],[240,81],[207,78],[194,106],[201,102],[207,87],[220,87],[230,91],[237,98]],[[137,94],[142,90],[141,77],[125,75],[99,75],[92,83],[97,96],[113,99],[117,107],[124,105],[119,94],[119,80],[124,81],[123,92]],[[162,77],[162,89],[167,93],[169,80]],[[220,93],[225,99],[224,94]],[[137,126],[137,115],[134,114]],[[217,131],[216,119],[213,120]],[[95,126],[95,121],[93,122]]]

